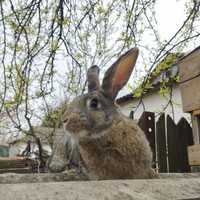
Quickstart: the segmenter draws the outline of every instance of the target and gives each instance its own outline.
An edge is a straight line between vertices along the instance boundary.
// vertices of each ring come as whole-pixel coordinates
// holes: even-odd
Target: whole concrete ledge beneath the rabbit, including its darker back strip
[[[85,181],[83,181],[85,180]],[[70,173],[0,174],[2,200],[200,200],[200,173],[159,179],[87,181]],[[20,183],[20,184],[19,184]]]

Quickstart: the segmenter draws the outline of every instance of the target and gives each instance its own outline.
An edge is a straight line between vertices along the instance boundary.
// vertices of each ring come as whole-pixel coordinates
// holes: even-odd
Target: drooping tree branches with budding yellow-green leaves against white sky
[[[34,135],[32,126],[44,113],[49,116],[52,105],[85,91],[89,66],[104,70],[132,46],[140,48],[141,65],[148,66],[145,85],[156,64],[200,37],[200,2],[188,0],[182,25],[163,41],[156,24],[158,1],[1,0],[0,113],[6,113],[6,123]]]

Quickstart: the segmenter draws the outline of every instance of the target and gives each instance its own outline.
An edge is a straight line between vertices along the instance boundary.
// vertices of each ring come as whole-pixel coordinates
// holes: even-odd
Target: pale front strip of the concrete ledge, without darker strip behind
[[[2,200],[200,199],[200,178],[0,184]]]

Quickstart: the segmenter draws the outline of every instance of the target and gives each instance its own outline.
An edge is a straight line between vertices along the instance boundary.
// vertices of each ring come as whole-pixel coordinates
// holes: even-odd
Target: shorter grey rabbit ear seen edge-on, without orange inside
[[[99,67],[94,65],[87,71],[88,92],[100,89]]]

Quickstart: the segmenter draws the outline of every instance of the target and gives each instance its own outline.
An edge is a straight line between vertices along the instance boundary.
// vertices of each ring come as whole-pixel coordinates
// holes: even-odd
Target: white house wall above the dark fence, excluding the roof
[[[152,92],[151,94],[143,97],[145,111],[155,112],[157,114],[163,112],[163,109],[166,107],[168,101],[169,101],[169,97],[161,96],[158,93],[158,91]],[[129,116],[131,110],[134,111],[135,110],[134,108],[137,107],[138,102],[139,102],[138,99],[134,99],[127,103],[120,104],[121,112],[124,115]],[[185,117],[188,120],[188,122],[190,122],[191,121],[190,114],[184,113],[182,110],[182,99],[181,99],[180,89],[178,86],[173,88],[172,102],[173,102],[173,107],[174,107],[175,122],[177,123],[181,117]],[[143,111],[144,111],[144,108],[142,104],[140,104],[140,106],[134,112],[134,119],[139,119]],[[173,118],[172,107],[170,105],[165,109],[165,113],[170,115]]]

